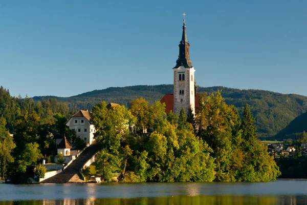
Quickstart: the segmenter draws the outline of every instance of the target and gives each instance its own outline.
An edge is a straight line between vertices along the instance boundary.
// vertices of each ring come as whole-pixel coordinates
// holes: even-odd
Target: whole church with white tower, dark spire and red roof
[[[199,107],[199,99],[196,96],[195,69],[190,59],[190,44],[187,39],[185,19],[183,19],[182,29],[179,56],[176,66],[172,68],[174,72],[173,94],[165,94],[160,101],[165,103],[166,113],[172,111],[174,114],[179,114],[182,108],[187,113],[188,109],[191,108],[193,114],[195,114],[195,108]]]

